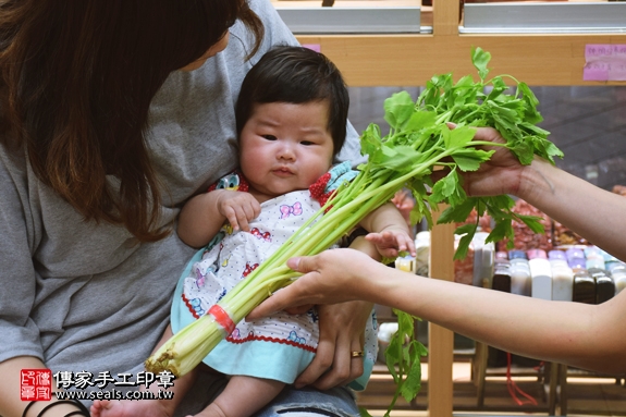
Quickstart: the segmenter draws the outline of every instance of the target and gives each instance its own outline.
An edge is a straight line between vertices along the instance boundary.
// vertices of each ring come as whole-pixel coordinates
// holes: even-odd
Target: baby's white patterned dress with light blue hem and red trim
[[[247,183],[237,173],[220,183],[218,187],[247,191]],[[249,223],[249,232],[233,232],[230,225],[224,225],[218,236],[194,256],[179,280],[172,305],[173,332],[205,315],[319,209],[320,203],[309,191],[297,191],[261,204],[261,213]],[[351,384],[355,390],[365,389],[371,375],[378,348],[376,329],[372,311],[366,328],[365,372]],[[302,315],[279,312],[236,323],[235,330],[204,361],[225,375],[292,383],[312,360],[318,340],[315,308]]]

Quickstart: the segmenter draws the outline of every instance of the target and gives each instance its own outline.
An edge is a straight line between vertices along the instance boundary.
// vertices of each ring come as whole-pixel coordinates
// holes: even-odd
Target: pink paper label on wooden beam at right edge
[[[585,81],[626,81],[626,45],[587,45],[585,62]]]

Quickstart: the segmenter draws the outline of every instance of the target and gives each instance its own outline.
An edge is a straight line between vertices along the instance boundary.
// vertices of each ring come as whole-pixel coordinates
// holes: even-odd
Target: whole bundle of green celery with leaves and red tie
[[[512,78],[517,88],[514,94],[507,94],[508,87],[502,76],[486,81],[488,52],[472,49],[471,59],[479,73],[478,83],[465,76],[453,84],[452,74],[439,75],[432,77],[417,101],[407,93],[395,94],[385,100],[385,120],[391,130],[384,137],[375,124],[364,132],[361,149],[369,158],[358,167],[358,176],[340,186],[316,217],[228,293],[216,314],[208,314],[187,326],[148,358],[147,369],[154,372],[168,369],[176,376],[192,370],[228,335],[224,329],[232,328],[232,323],[241,321],[272,292],[297,278],[298,274],[285,266],[289,258],[328,249],[403,187],[412,191],[417,203],[410,213],[413,223],[426,217],[432,225],[430,207],[445,203],[449,208],[440,222],[464,221],[474,208],[479,216],[487,211],[495,221],[489,241],[507,236],[512,242],[511,222],[514,219],[524,221],[533,231],[542,231],[537,218],[511,211],[511,197],[468,198],[462,188],[459,171],[477,170],[493,154],[493,150],[479,149],[483,145],[505,146],[525,164],[531,162],[533,155],[552,162],[554,156],[562,156],[547,139],[548,132],[535,125],[541,116],[536,108],[538,101],[528,86]],[[491,89],[488,94],[484,93],[487,88]],[[456,123],[457,127],[451,130],[446,122]],[[506,144],[472,140],[475,130],[471,126],[493,126],[502,133]],[[430,174],[437,168],[447,168],[450,173],[432,183]],[[478,222],[457,230],[465,236],[455,257],[466,255],[477,225]],[[407,400],[419,391],[419,356],[426,354],[416,341],[408,346],[404,343],[405,335],[413,335],[413,319],[401,317],[401,331],[386,355],[390,371],[398,383],[398,393]],[[405,370],[407,377],[403,378]]]

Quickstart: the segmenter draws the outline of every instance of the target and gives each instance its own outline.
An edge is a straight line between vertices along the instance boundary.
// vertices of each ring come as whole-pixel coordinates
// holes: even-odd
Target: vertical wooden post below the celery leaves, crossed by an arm
[[[445,209],[440,206],[433,211],[437,222]],[[430,237],[430,277],[438,280],[454,280],[454,229],[455,224],[440,224],[432,228]],[[452,361],[454,333],[440,326],[429,323],[428,328],[428,412],[430,417],[452,416]]]

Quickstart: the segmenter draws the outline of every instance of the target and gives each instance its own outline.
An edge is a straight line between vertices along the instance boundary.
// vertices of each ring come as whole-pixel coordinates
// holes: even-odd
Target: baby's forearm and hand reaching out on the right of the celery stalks
[[[392,203],[370,212],[360,225],[370,232],[365,238],[377,246],[380,255],[394,258],[400,252],[407,250],[416,256],[415,242],[406,220]]]

